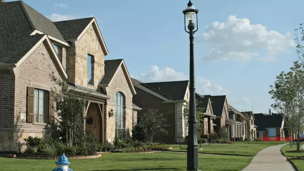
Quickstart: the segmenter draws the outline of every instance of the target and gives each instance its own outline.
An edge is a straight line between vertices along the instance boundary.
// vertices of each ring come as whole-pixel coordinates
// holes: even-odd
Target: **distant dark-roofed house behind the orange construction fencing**
[[[257,126],[257,138],[272,138],[276,141],[281,141],[284,138],[284,118],[282,115],[258,113],[254,114],[254,118],[254,124]]]

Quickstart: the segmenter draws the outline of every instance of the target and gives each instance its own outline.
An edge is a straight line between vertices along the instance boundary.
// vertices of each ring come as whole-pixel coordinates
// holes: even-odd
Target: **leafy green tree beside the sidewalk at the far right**
[[[299,133],[302,130],[304,119],[304,63],[294,61],[290,71],[281,72],[276,79],[269,91],[275,100],[272,107],[284,114],[290,133],[296,129],[297,151],[299,152]]]

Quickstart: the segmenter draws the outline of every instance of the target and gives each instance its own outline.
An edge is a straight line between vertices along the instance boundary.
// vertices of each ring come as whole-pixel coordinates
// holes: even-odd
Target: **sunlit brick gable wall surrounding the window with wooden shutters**
[[[27,60],[25,60],[19,69],[19,75],[16,78],[15,85],[15,117],[21,115],[20,128],[23,129],[20,140],[28,136],[42,136],[47,124],[43,123],[26,123],[26,93],[28,86],[50,90],[51,87],[59,88],[50,80],[49,74],[54,72],[57,77],[59,73],[56,69],[53,59],[50,57],[48,50],[42,43]],[[39,86],[39,87],[37,87]],[[57,115],[55,114],[55,117]],[[15,132],[15,136],[17,132]],[[10,146],[13,149],[13,144]],[[10,149],[7,149],[10,150]]]

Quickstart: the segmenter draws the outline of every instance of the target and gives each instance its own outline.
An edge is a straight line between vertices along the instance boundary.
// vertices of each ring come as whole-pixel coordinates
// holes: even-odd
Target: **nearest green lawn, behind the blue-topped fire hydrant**
[[[242,170],[252,157],[199,155],[199,167],[203,170]],[[76,171],[101,170],[186,170],[186,154],[155,152],[155,153],[106,153],[96,159],[70,160],[70,168]],[[55,160],[14,159],[0,157],[0,170],[31,171],[52,170]]]

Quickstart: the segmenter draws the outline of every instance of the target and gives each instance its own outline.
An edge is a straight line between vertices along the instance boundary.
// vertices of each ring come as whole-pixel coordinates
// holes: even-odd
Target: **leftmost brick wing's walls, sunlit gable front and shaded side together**
[[[11,94],[10,98],[7,100],[10,101],[10,105],[7,104],[7,107],[10,110],[0,110],[1,112],[7,113],[7,124],[1,124],[4,125],[3,128],[6,129],[5,132],[0,132],[0,139],[5,140],[5,142],[1,143],[0,151],[16,151],[14,142],[18,139],[23,141],[23,139],[28,138],[28,136],[43,135],[46,127],[48,126],[47,124],[26,123],[27,87],[30,86],[49,91],[51,87],[57,87],[57,85],[49,78],[49,74],[54,72],[55,76],[60,78],[54,64],[54,60],[49,55],[44,43],[37,47],[36,50],[33,51],[26,60],[24,60],[18,69],[19,74],[15,77],[15,82],[13,77],[10,77],[10,79],[7,78],[7,82],[3,82],[3,78],[0,76],[0,85],[3,83],[10,83],[10,86],[3,89],[1,88],[0,91],[9,90],[7,94]],[[5,101],[6,100],[0,100],[0,103]],[[5,107],[6,105],[4,104],[3,106]],[[17,116],[20,116],[18,121],[19,124],[12,127],[12,121],[15,118],[16,123]],[[18,128],[23,130],[23,133],[16,132]]]

